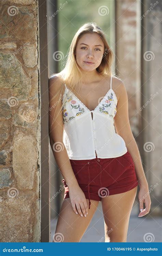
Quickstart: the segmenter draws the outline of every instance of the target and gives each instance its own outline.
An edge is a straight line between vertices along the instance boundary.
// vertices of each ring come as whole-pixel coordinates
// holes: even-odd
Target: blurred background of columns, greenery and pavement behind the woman
[[[149,185],[150,212],[139,218],[138,191],[131,213],[127,242],[161,242],[161,1],[47,0],[49,76],[63,69],[72,38],[85,22],[96,22],[115,60],[113,72],[124,82],[129,119]],[[64,198],[62,175],[51,146],[51,242]],[[102,205],[81,242],[104,242]]]

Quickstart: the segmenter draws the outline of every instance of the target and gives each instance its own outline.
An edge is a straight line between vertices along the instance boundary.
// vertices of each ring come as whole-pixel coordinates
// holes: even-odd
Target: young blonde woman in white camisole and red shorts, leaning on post
[[[65,185],[53,242],[79,242],[99,201],[105,242],[126,242],[138,184],[138,216],[150,210],[126,89],[112,75],[112,61],[102,29],[86,23],[72,39],[65,68],[49,79],[50,144]]]

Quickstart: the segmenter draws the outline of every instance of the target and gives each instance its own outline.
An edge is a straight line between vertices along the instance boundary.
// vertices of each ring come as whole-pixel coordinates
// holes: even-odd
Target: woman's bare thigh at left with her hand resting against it
[[[89,200],[86,199],[87,205]],[[92,220],[99,201],[91,200],[91,209],[86,217],[76,214],[71,206],[70,198],[64,199],[60,209],[53,242],[80,242],[84,232]]]

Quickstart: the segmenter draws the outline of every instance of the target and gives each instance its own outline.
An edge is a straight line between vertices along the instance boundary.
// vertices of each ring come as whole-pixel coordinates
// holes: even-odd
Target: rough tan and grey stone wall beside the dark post
[[[0,242],[40,242],[38,2],[0,8]]]

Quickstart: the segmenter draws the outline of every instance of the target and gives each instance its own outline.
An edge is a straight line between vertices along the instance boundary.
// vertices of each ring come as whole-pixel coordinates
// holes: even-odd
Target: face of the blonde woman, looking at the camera
[[[104,43],[100,36],[97,33],[86,33],[78,40],[76,61],[84,71],[93,71],[102,62],[104,51]]]

